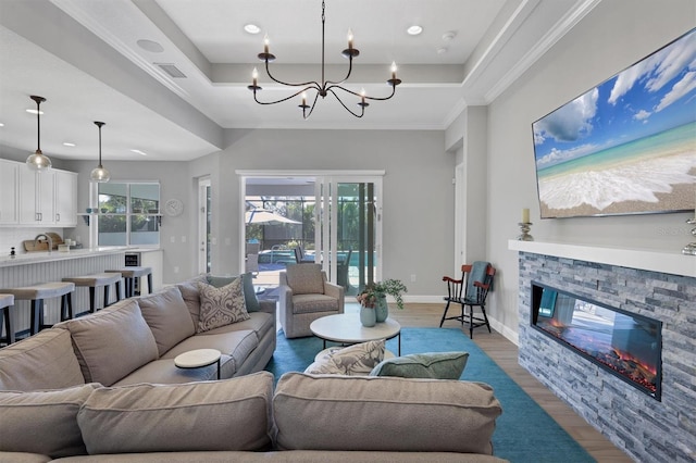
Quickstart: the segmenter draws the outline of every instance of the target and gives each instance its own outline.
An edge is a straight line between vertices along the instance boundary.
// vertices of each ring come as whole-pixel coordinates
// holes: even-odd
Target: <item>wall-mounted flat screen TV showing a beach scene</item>
[[[693,211],[696,28],[532,129],[542,218]]]

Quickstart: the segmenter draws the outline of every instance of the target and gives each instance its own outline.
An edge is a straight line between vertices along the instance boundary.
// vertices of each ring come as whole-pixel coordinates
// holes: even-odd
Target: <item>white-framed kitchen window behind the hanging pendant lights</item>
[[[160,184],[98,184],[98,246],[160,243]]]

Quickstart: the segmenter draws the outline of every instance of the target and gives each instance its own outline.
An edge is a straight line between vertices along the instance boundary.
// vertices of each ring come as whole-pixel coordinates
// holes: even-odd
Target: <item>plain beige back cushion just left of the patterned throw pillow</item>
[[[196,334],[186,302],[177,287],[138,298],[142,317],[152,330],[160,355]]]

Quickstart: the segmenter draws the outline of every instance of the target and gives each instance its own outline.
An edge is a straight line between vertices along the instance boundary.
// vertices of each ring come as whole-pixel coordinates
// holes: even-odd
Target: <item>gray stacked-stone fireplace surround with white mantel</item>
[[[520,364],[634,460],[696,461],[696,258],[513,240],[508,247],[519,251]],[[661,321],[661,401],[533,329],[532,280]]]

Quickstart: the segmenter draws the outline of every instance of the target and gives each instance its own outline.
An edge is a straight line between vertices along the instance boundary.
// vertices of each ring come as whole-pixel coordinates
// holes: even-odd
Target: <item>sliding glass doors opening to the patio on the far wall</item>
[[[378,280],[383,172],[238,174],[245,213],[240,245],[259,242],[260,286],[278,284],[278,273],[297,263],[298,247],[346,295]],[[268,214],[256,218],[260,211]]]

